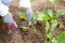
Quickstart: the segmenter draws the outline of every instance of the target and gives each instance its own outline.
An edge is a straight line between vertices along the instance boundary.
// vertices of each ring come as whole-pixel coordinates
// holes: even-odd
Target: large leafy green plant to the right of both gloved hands
[[[49,39],[50,43],[57,43],[55,38],[53,37],[53,31],[56,28],[56,26],[60,24],[58,16],[65,14],[65,11],[56,11],[53,13],[52,10],[48,10],[47,12],[37,12],[34,15],[34,19],[36,20],[42,20],[46,23],[46,42]],[[63,25],[63,24],[62,24]],[[64,26],[64,25],[63,25]],[[50,32],[48,32],[50,29]]]

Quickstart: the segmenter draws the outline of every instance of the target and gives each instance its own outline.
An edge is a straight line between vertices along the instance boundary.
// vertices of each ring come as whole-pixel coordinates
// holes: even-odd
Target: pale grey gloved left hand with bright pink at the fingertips
[[[2,17],[3,17],[4,23],[8,23],[13,29],[17,29],[17,25],[14,22],[12,14],[10,12]]]

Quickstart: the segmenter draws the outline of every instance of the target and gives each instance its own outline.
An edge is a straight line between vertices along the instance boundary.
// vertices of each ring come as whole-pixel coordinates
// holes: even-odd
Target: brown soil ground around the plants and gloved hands
[[[13,0],[14,2],[10,6],[13,18],[17,23],[18,27],[26,26],[28,23],[26,20],[21,20],[18,16],[18,0]],[[47,0],[32,0],[34,12],[37,11],[47,11],[53,9],[50,2]],[[55,4],[55,10],[65,10],[65,2],[57,1]],[[0,43],[44,43],[44,23],[38,22],[36,24],[37,33],[34,32],[34,28],[30,27],[27,32],[20,32],[11,29],[8,24],[4,24],[2,17],[0,17]],[[65,15],[61,16],[61,20],[65,24]],[[58,31],[58,32],[57,32]],[[58,27],[54,30],[54,37],[57,39],[57,35],[63,31]]]

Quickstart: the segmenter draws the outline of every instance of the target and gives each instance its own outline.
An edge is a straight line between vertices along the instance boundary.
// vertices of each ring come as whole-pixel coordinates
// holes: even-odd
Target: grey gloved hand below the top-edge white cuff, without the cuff
[[[30,25],[36,25],[36,20],[34,20],[34,18],[32,18],[34,12],[32,12],[31,8],[28,8],[26,10],[26,14],[27,14],[27,17],[28,17],[29,26]]]

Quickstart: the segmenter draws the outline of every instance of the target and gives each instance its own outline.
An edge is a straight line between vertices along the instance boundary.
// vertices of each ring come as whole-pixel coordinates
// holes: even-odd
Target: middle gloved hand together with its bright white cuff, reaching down
[[[27,17],[28,17],[29,26],[35,25],[36,22],[32,19],[34,12],[31,10],[30,0],[20,0],[20,8],[25,8],[26,9],[26,14],[27,14]]]

